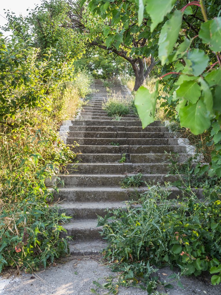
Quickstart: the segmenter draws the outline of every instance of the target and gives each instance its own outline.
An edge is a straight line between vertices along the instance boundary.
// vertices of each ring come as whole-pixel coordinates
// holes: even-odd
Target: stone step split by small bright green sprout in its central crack
[[[170,154],[130,154],[131,163],[162,163],[172,158],[178,162],[183,162],[187,159],[185,153],[180,153],[178,157]],[[116,163],[121,160],[121,154],[118,153],[103,153],[103,154],[80,154],[77,159],[82,163]]]

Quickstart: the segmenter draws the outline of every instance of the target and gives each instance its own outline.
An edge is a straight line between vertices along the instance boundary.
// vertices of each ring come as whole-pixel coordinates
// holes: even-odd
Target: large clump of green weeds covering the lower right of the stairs
[[[212,284],[219,283],[221,193],[210,191],[203,201],[193,193],[188,199],[169,200],[169,194],[168,190],[162,193],[159,184],[150,186],[141,195],[139,207],[134,208],[131,201],[127,210],[116,209],[99,217],[98,225],[103,226],[102,235],[108,243],[105,258],[114,271],[129,265],[125,283],[142,282],[147,291],[149,273],[144,268],[140,273],[134,271],[138,263],[176,266],[184,275],[216,271]]]

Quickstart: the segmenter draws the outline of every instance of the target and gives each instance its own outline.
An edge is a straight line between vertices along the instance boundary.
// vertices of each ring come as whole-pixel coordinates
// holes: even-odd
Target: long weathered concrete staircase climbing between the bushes
[[[128,96],[127,89],[120,81],[108,80],[113,93],[121,92]],[[72,121],[64,128],[68,132],[67,144],[80,144],[74,151],[80,162],[67,165],[68,174],[60,175],[64,187],[55,194],[55,201],[60,200],[60,206],[66,214],[72,216],[69,224],[64,227],[67,235],[73,237],[70,251],[73,255],[98,254],[104,247],[97,226],[97,214],[104,216],[105,209],[125,207],[133,189],[121,189],[119,182],[125,174],[143,173],[143,180],[153,183],[177,180],[176,175],[166,177],[167,164],[163,163],[168,155],[166,152],[179,153],[179,160],[186,158],[186,146],[179,145],[179,139],[162,123],[156,121],[146,127],[141,127],[140,120],[133,114],[115,121],[107,117],[102,110],[102,104],[111,96],[101,80],[95,80],[91,99],[83,108],[80,119]],[[64,131],[63,129],[63,131]],[[112,146],[111,142],[120,146]],[[122,154],[126,154],[126,163],[118,163]],[[141,186],[138,191],[146,191]],[[177,188],[172,189],[170,198],[179,195]]]

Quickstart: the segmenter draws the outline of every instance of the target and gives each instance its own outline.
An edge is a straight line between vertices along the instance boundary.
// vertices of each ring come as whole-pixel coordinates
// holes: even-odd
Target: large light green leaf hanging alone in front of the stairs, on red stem
[[[137,112],[141,119],[143,128],[154,122],[157,91],[158,81],[156,82],[154,92],[150,93],[150,91],[146,87],[141,86],[136,93],[134,104],[137,108]]]

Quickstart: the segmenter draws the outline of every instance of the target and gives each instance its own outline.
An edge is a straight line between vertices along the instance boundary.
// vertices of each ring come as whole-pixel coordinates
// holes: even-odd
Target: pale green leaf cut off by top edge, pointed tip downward
[[[165,15],[171,11],[175,2],[176,0],[148,0],[146,2],[146,12],[152,20],[151,32],[164,20]]]

